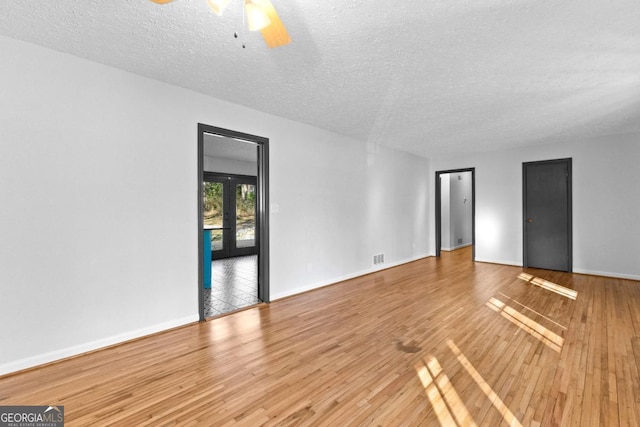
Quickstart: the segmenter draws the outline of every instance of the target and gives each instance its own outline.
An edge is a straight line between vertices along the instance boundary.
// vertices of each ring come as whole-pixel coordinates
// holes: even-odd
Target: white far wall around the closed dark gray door
[[[437,159],[432,165],[476,168],[476,259],[522,265],[522,163],[567,157],[573,158],[574,271],[640,279],[640,135]]]

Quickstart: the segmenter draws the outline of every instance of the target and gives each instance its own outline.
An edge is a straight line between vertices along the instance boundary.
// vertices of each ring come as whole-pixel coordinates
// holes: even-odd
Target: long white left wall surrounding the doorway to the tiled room
[[[272,297],[429,253],[427,160],[6,37],[0,51],[0,374],[197,319],[199,122],[270,138]]]

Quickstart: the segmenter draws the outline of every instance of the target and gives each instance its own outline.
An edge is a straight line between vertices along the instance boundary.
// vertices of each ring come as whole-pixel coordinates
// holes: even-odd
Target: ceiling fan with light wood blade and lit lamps
[[[174,0],[151,0],[157,4],[166,4]],[[216,15],[222,15],[231,0],[206,0]],[[280,20],[270,0],[242,0],[250,31],[262,34],[267,47],[284,46],[291,42],[291,37]]]

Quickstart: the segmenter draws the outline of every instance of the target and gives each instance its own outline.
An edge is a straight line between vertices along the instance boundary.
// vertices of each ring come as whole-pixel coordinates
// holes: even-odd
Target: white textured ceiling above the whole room
[[[7,0],[0,34],[425,157],[640,132],[638,0],[272,1],[271,50],[240,0]]]

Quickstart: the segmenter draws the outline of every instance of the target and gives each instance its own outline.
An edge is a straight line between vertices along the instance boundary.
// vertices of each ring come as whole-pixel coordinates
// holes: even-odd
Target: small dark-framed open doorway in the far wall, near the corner
[[[471,246],[476,259],[475,168],[436,172],[436,256]]]

